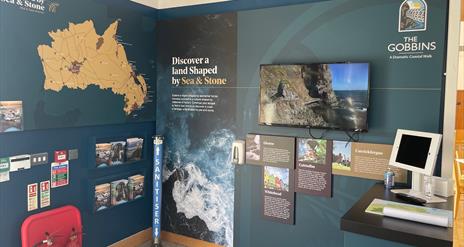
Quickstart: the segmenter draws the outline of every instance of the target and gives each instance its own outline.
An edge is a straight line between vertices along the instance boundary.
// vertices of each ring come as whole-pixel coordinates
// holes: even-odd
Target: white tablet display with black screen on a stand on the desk
[[[410,195],[430,200],[422,189],[422,175],[432,176],[435,170],[437,156],[440,151],[441,134],[398,129],[393,144],[389,165],[412,172],[411,190],[392,190],[392,192],[408,193]]]

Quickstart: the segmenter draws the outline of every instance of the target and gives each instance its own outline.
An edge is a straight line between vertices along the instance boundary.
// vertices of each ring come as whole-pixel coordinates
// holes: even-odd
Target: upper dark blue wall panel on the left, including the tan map
[[[156,20],[113,6],[0,1],[0,101],[23,130],[154,120]]]

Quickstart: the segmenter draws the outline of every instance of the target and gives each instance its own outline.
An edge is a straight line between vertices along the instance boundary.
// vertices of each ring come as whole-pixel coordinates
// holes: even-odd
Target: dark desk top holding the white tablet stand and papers
[[[414,246],[453,246],[453,228],[444,228],[365,213],[374,198],[397,201],[395,194],[383,184],[374,185],[341,219],[343,231],[368,235]],[[453,210],[453,197],[445,203],[427,204],[428,207]]]

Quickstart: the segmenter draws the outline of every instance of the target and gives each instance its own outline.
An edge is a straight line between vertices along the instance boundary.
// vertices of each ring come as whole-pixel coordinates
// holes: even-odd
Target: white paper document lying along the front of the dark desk
[[[436,226],[453,227],[453,212],[438,208],[374,199],[365,212]]]

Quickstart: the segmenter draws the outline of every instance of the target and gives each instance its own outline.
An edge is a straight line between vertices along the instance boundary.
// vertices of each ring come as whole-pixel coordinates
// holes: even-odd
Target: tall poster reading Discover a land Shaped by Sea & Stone
[[[235,14],[157,25],[162,229],[234,246]],[[204,243],[206,245],[206,243]]]

